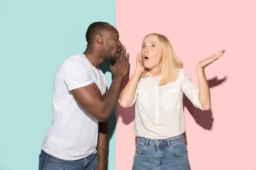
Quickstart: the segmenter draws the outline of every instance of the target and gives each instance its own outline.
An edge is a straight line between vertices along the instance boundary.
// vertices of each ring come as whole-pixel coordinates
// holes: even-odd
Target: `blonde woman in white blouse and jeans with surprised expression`
[[[134,135],[138,139],[133,170],[190,170],[182,135],[183,93],[195,107],[209,110],[211,99],[204,68],[224,52],[198,63],[198,89],[164,35],[153,33],[144,38],[134,74],[119,98],[123,108],[136,102]]]

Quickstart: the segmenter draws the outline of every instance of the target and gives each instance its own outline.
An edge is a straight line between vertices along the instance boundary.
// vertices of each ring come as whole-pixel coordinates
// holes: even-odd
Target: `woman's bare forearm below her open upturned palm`
[[[210,94],[204,69],[197,68],[197,75],[198,75],[198,86],[199,86],[199,94],[198,94],[199,102],[204,110],[209,110],[211,107],[211,94]]]

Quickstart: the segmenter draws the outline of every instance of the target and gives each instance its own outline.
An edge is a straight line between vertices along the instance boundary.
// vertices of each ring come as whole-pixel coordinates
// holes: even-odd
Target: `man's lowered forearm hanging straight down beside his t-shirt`
[[[98,167],[107,169],[108,165],[108,121],[99,122],[99,136],[98,136]]]

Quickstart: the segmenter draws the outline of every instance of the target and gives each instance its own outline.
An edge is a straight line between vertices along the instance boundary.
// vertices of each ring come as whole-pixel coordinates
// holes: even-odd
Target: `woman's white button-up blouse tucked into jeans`
[[[167,139],[185,132],[183,93],[192,104],[203,110],[198,100],[199,89],[180,69],[175,82],[159,86],[161,76],[140,78],[135,92],[134,135],[148,139]],[[130,107],[131,107],[130,106]]]

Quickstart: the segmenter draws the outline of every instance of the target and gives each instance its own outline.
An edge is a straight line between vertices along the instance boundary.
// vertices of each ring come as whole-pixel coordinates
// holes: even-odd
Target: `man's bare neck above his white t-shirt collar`
[[[91,50],[90,48],[86,48],[83,54],[87,57],[89,62],[95,67],[98,68],[100,64],[104,62],[104,58],[100,57],[98,50]]]

